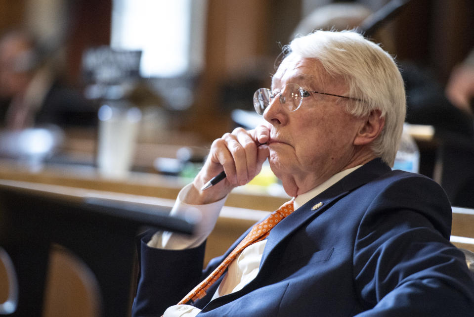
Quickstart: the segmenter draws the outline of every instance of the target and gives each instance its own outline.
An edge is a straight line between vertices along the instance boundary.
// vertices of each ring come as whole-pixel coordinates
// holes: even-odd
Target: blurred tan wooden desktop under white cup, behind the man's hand
[[[106,179],[100,177],[93,166],[81,165],[52,164],[45,165],[39,171],[29,171],[25,166],[11,160],[0,160],[0,179],[63,185],[81,188],[85,192],[97,190],[172,200],[176,199],[184,185],[191,182],[189,179],[140,172],[132,172],[126,179]],[[244,186],[234,189],[225,205],[273,211],[275,206],[281,206],[287,200],[287,195],[273,196],[259,186]]]

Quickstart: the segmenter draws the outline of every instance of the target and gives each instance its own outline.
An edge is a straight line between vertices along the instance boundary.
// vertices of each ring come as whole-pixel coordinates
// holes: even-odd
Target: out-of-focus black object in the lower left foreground
[[[144,226],[191,233],[188,221],[149,208],[104,199],[79,201],[41,190],[0,185],[0,245],[18,280],[9,316],[41,316],[51,244],[66,247],[94,273],[102,316],[126,317],[132,300],[135,236]],[[143,207],[143,208],[142,208]]]

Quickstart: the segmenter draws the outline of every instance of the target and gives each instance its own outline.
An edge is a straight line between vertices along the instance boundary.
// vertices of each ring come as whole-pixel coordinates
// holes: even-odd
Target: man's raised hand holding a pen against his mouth
[[[246,131],[235,129],[216,139],[211,145],[204,167],[193,181],[193,188],[184,197],[188,204],[212,203],[225,197],[233,188],[245,185],[259,174],[263,162],[269,155],[268,141],[270,130],[259,126]],[[201,187],[220,172],[226,179],[204,191]]]

